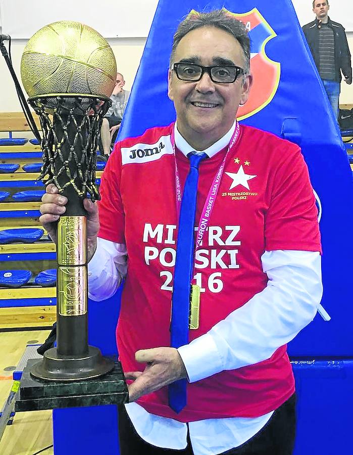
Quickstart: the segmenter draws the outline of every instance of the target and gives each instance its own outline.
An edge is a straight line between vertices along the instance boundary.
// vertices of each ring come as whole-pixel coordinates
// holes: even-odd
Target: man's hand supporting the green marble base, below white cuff
[[[143,372],[125,373],[127,380],[134,381],[128,386],[130,402],[178,379],[187,378],[184,363],[175,348],[143,349],[135,353],[135,359],[138,362],[146,363],[146,367]]]

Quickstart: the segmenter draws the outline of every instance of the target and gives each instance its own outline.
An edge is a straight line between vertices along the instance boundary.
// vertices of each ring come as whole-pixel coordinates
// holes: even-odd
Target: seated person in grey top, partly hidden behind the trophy
[[[104,116],[102,127],[100,128],[100,141],[102,142],[103,149],[100,149],[100,151],[103,152],[104,155],[110,155],[111,144],[112,142],[115,142],[115,138],[123,119],[127,100],[130,96],[130,92],[128,90],[124,90],[124,85],[124,76],[121,73],[117,73],[115,87],[110,97],[113,104]]]

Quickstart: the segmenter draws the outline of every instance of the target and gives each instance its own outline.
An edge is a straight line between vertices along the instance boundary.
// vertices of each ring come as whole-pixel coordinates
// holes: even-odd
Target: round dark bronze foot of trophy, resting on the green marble
[[[113,368],[114,362],[103,357],[96,347],[88,346],[84,357],[59,356],[55,347],[44,352],[43,359],[32,366],[30,374],[45,381],[81,381],[103,376]]]

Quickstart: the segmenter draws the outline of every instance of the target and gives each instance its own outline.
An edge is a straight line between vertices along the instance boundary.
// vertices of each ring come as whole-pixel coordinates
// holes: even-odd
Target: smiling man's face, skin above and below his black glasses
[[[187,33],[179,42],[173,63],[203,66],[236,65],[244,68],[239,42],[226,31],[202,27]],[[169,70],[168,96],[174,102],[178,129],[186,140],[207,135],[213,142],[232,126],[239,104],[248,98],[252,77],[239,75],[233,83],[215,83],[204,73],[199,81],[179,80]]]

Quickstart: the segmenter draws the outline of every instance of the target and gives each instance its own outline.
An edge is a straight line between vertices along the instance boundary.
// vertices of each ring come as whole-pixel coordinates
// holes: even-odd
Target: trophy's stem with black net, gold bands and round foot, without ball
[[[68,198],[68,203],[58,222],[57,347],[47,350],[30,372],[35,378],[49,381],[79,381],[102,376],[114,368],[114,363],[103,357],[98,348],[88,346],[87,332],[87,220],[83,199],[94,185],[94,179],[87,177],[94,168],[92,119],[88,112],[95,100],[51,99],[56,107],[50,124],[45,123],[48,116],[38,107],[43,101],[30,100],[40,115],[43,130],[51,131],[42,142],[46,163],[42,174],[52,175],[51,182]],[[102,111],[99,103],[93,111],[97,109]]]

